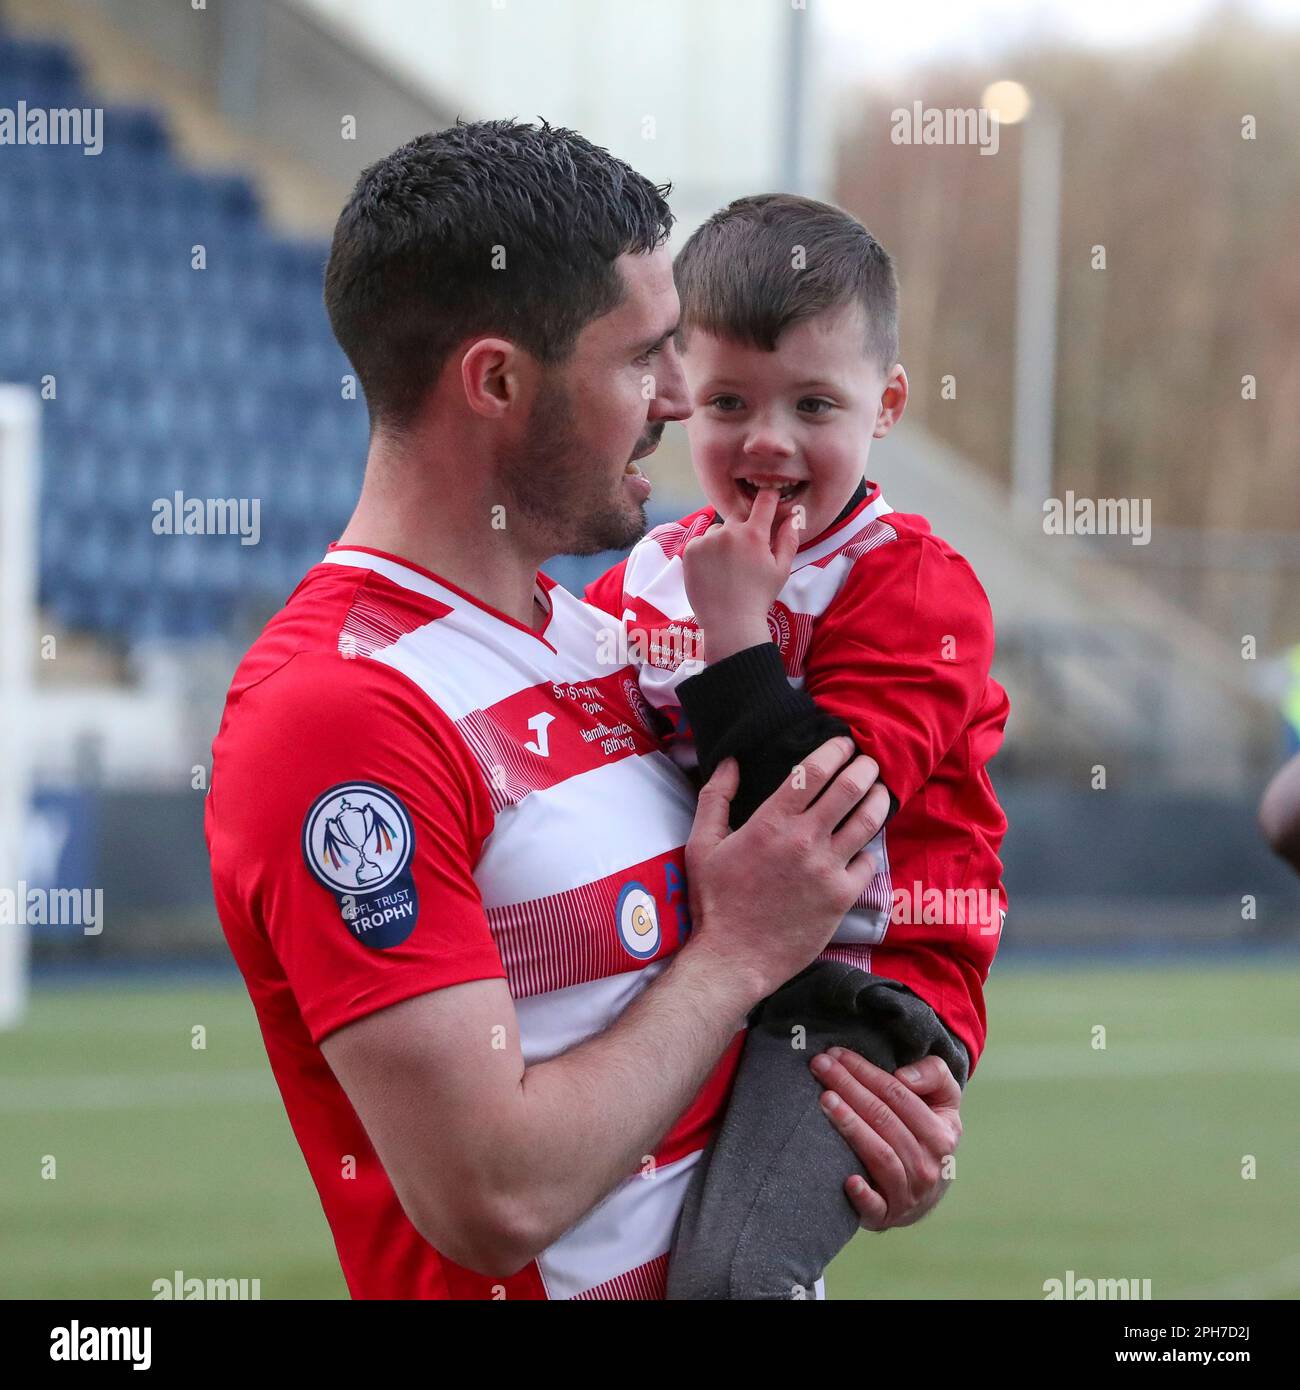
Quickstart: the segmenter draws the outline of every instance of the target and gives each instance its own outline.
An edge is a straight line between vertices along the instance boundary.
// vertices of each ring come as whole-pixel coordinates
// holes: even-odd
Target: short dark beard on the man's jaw
[[[658,438],[662,428],[652,427],[649,436]],[[609,478],[609,467],[608,460],[583,457],[569,392],[552,374],[523,445],[502,460],[506,525],[512,512],[527,518],[552,555],[626,550],[645,535],[645,506],[631,500],[621,478]]]

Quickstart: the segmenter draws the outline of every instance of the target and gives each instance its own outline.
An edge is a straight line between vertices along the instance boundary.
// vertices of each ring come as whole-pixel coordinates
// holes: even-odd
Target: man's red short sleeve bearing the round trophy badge
[[[227,930],[264,935],[318,1042],[502,977],[473,869],[491,808],[455,727],[380,662],[299,653],[228,709],[207,834]]]

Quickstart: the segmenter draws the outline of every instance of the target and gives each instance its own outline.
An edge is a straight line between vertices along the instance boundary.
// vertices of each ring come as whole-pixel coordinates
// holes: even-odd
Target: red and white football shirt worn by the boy
[[[674,726],[669,746],[683,767],[697,759],[677,687],[708,657],[683,552],[715,516],[702,507],[656,527],[587,588],[623,619],[641,691]],[[894,512],[869,482],[858,506],[799,546],[767,628],[790,684],[852,728],[900,803],[869,847],[876,874],[826,955],[915,990],[966,1044],[973,1070],[1007,906],[1007,820],[986,764],[1009,706],[989,674],[989,599],[923,517]]]

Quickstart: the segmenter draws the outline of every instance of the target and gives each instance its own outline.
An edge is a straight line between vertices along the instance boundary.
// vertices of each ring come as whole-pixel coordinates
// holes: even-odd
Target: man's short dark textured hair
[[[617,257],[667,238],[669,192],[545,121],[457,121],[371,164],[325,268],[330,324],[371,427],[407,424],[469,336],[563,361],[619,304]]]

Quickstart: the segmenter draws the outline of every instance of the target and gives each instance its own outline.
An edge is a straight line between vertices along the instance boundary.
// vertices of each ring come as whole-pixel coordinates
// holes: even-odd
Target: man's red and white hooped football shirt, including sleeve
[[[535,592],[539,632],[331,546],[245,656],[213,748],[222,929],[353,1297],[663,1297],[740,1055],[737,1036],[653,1182],[630,1175],[502,1282],[416,1232],[321,1055],[388,1005],[505,977],[531,1065],[615,1020],[690,929],[691,784],[608,660],[608,616],[542,574]]]

